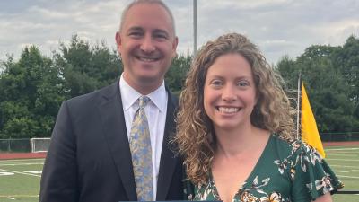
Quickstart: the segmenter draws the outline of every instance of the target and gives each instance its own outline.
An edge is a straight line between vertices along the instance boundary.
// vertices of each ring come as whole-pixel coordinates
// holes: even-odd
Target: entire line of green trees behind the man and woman
[[[165,76],[172,92],[180,94],[191,60],[173,59]],[[288,89],[297,88],[302,74],[320,132],[351,132],[359,131],[358,64],[359,40],[351,36],[343,46],[314,45],[296,59],[283,57],[276,70]],[[50,136],[62,101],[115,82],[122,65],[104,42],[91,45],[74,35],[52,58],[31,46],[0,69],[0,138],[17,138]]]

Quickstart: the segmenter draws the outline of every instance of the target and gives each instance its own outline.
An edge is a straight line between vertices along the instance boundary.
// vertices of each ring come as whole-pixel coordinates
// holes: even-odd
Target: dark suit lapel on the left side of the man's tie
[[[127,129],[118,82],[103,92],[99,106],[104,136],[128,200],[137,200]]]

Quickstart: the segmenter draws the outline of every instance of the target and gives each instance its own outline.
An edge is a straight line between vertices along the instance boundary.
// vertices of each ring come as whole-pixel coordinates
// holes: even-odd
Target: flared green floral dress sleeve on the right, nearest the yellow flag
[[[328,192],[333,194],[337,189],[344,187],[328,163],[310,145],[298,142],[297,146],[293,147],[292,157],[294,202],[313,201]]]

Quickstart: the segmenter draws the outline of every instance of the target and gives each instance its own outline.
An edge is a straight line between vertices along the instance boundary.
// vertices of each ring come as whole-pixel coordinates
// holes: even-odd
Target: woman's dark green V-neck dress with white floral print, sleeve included
[[[212,175],[205,185],[186,186],[189,200],[221,200]],[[272,135],[232,202],[309,202],[343,187],[310,145]]]

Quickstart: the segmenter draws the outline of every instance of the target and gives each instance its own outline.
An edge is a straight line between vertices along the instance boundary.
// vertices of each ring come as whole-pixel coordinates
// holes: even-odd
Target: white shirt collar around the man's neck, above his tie
[[[128,110],[139,97],[142,96],[140,92],[137,92],[133,87],[131,87],[123,78],[123,74],[119,79],[119,89],[121,92],[121,99],[124,110]],[[166,102],[167,102],[167,92],[164,87],[164,81],[161,86],[157,88],[155,91],[146,95],[151,99],[153,104],[160,110],[166,110]]]

